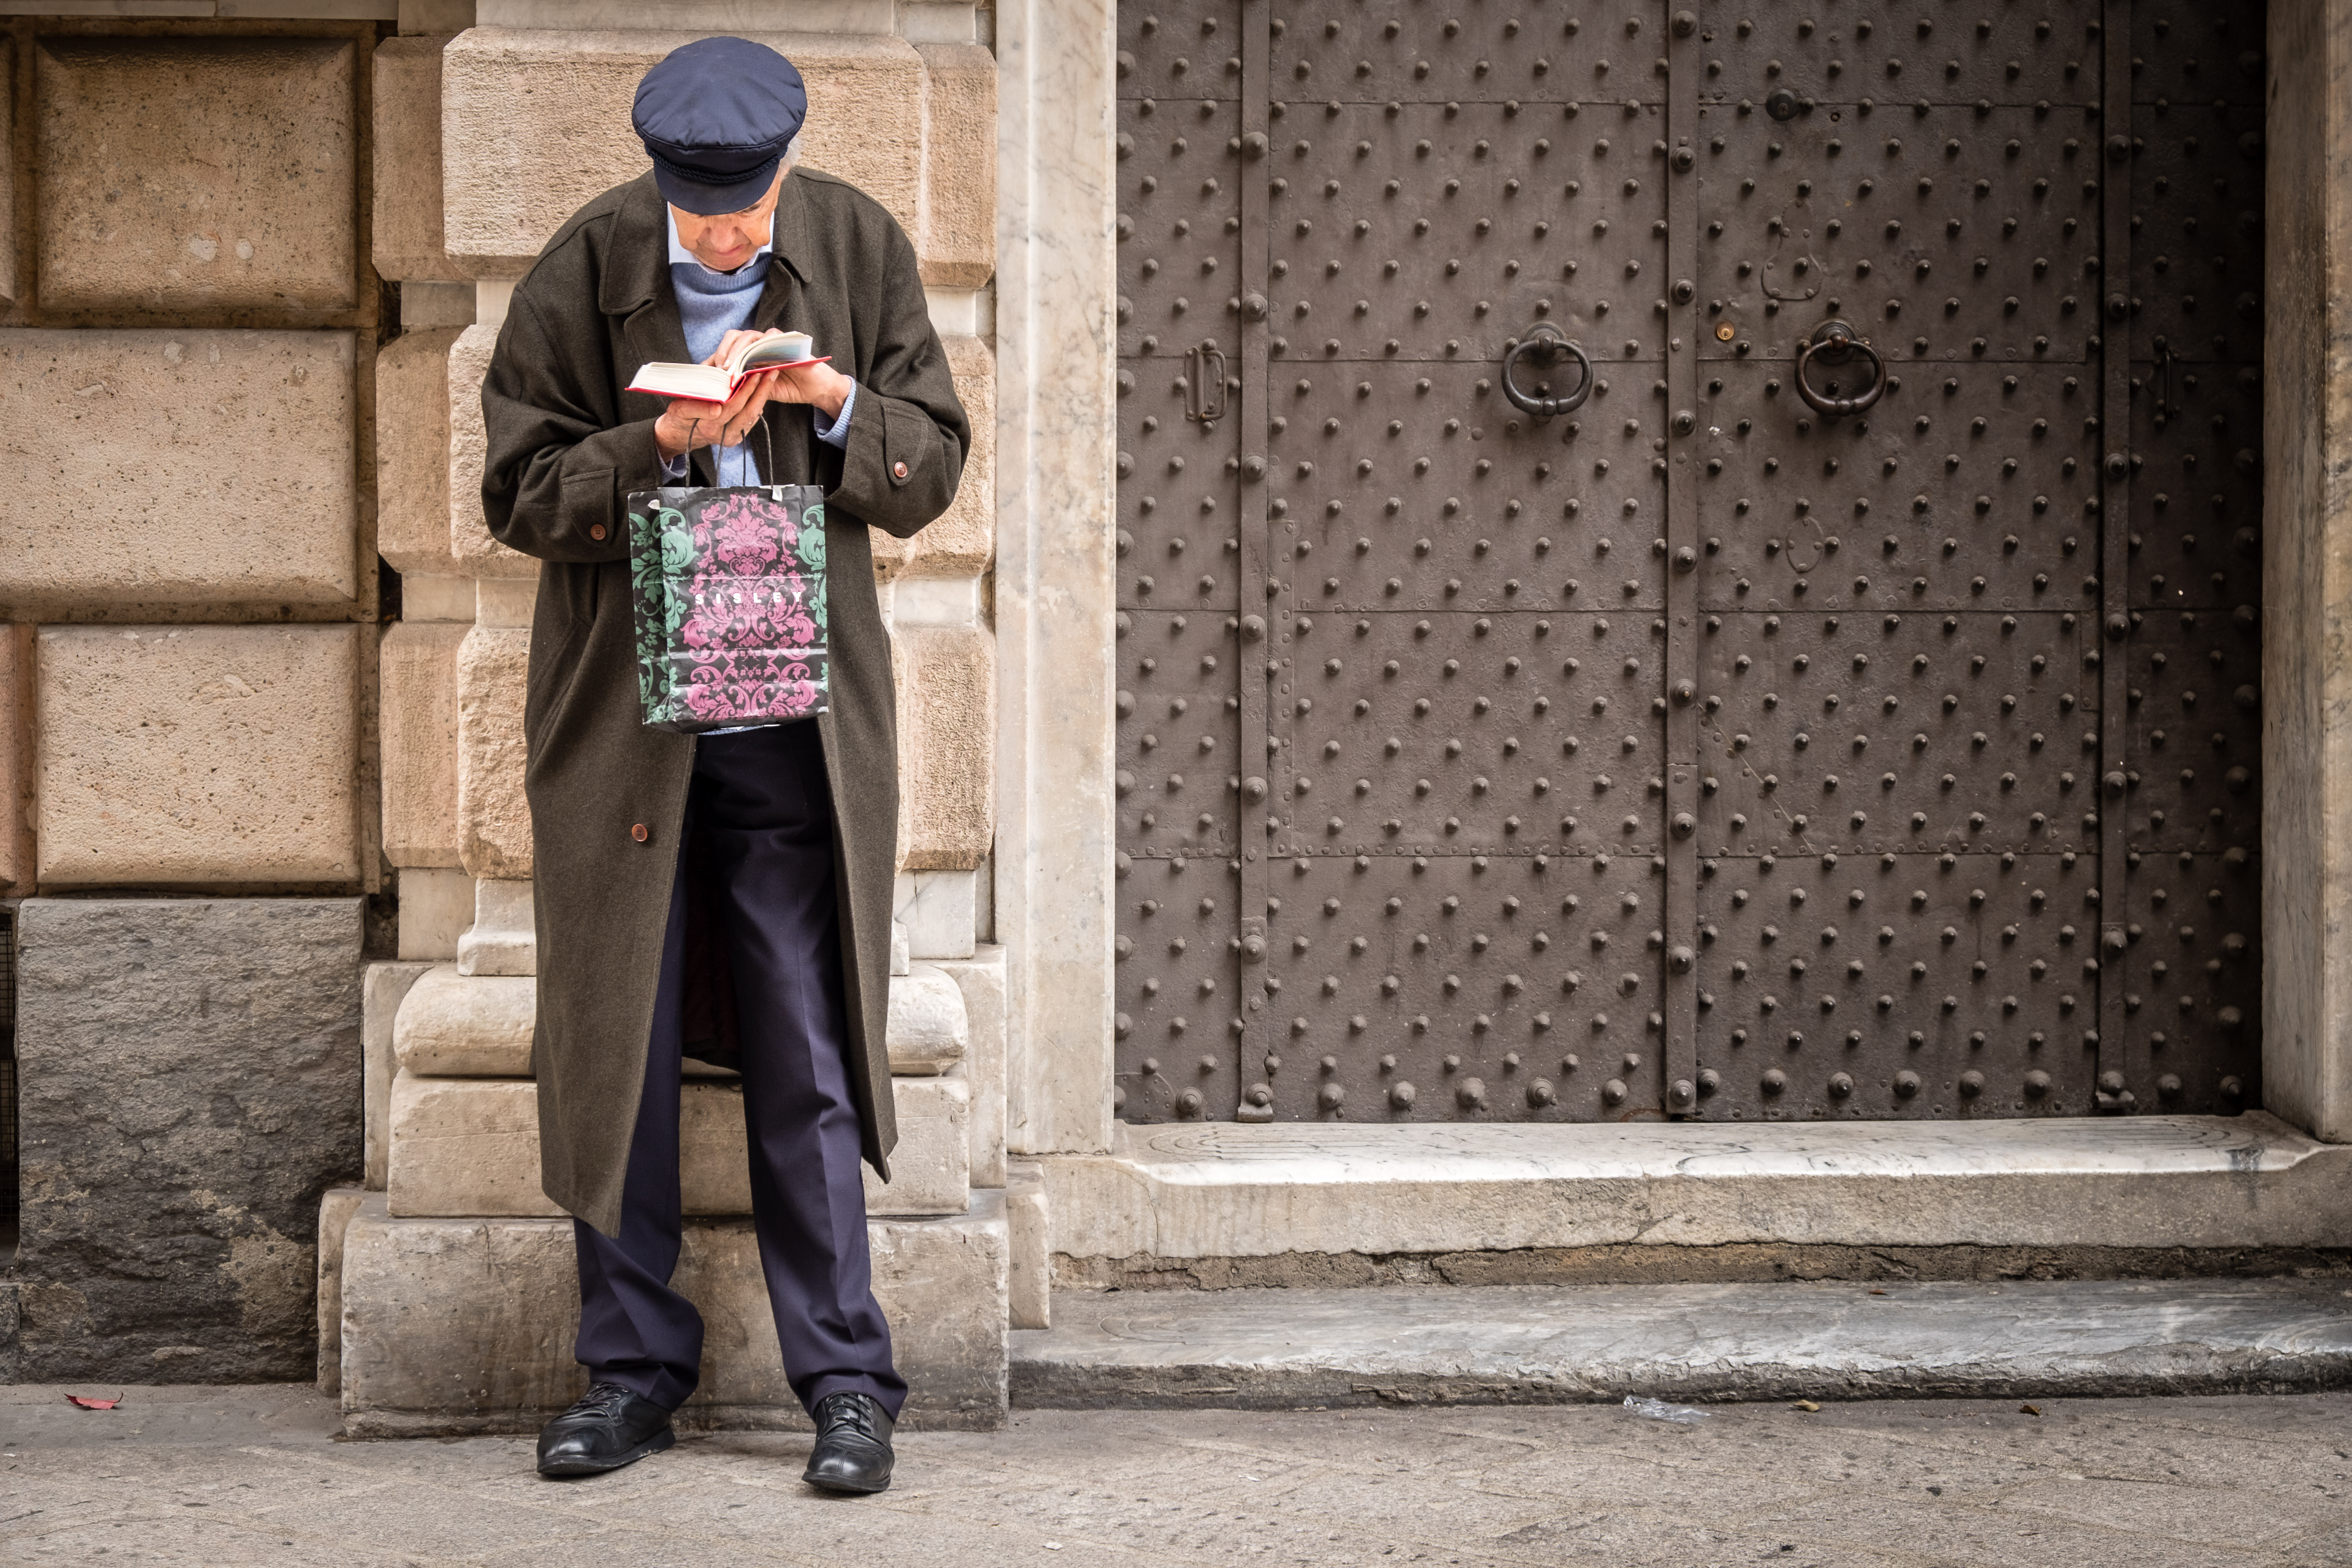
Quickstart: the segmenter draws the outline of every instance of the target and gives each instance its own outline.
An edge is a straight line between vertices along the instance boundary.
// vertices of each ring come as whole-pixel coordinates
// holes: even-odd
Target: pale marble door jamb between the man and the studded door
[[[1110,1147],[1108,0],[997,7],[997,940],[1014,1150]]]

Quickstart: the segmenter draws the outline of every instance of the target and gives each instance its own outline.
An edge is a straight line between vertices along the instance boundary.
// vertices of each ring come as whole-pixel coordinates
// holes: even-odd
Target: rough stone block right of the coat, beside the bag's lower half
[[[898,865],[971,870],[995,835],[995,642],[971,625],[903,625],[898,677]]]

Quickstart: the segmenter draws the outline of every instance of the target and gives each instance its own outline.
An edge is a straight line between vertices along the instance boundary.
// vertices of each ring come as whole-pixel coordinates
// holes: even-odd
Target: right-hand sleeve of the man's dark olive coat
[[[971,421],[955,400],[948,350],[931,329],[915,247],[889,219],[882,233],[875,353],[849,409],[842,482],[826,505],[906,538],[955,501]]]

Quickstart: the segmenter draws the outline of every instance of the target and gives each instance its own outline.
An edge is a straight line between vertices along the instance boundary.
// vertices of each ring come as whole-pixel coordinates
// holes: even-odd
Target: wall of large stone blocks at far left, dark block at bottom
[[[362,1171],[383,891],[388,28],[80,9],[0,21],[0,896],[26,900],[0,1363],[289,1378],[320,1194]]]

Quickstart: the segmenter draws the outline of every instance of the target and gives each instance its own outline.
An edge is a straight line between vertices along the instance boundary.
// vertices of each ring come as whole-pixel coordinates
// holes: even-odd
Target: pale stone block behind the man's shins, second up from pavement
[[[891,1079],[898,1147],[884,1187],[866,1171],[866,1213],[962,1213],[971,1192],[971,1091],[960,1077]],[[529,1079],[393,1079],[395,1215],[553,1215],[539,1190],[539,1086]],[[694,1079],[677,1110],[687,1213],[750,1213],[743,1086]]]

